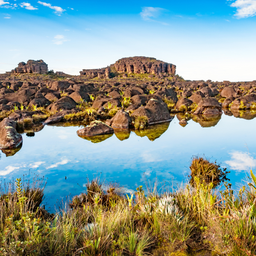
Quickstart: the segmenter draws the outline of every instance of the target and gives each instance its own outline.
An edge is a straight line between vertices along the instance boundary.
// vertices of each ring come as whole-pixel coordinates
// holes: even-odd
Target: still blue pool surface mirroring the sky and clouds
[[[180,184],[189,169],[192,155],[205,154],[222,162],[231,171],[232,184],[245,178],[244,171],[256,166],[256,119],[245,120],[222,115],[214,127],[202,128],[192,120],[181,127],[175,118],[159,138],[150,141],[131,132],[127,140],[113,135],[92,143],[76,135],[78,127],[46,126],[35,137],[23,136],[23,145],[14,156],[0,160],[0,176],[11,180],[23,174],[48,178],[46,192],[54,204],[66,195],[81,192],[86,177],[101,174],[101,180],[118,181],[127,190],[144,185],[147,179]],[[250,151],[248,156],[247,148]],[[65,176],[67,179],[65,180]],[[79,185],[77,185],[79,184]]]

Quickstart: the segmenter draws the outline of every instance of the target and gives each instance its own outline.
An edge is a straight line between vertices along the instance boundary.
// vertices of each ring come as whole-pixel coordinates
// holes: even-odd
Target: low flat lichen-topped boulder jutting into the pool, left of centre
[[[114,130],[112,127],[104,124],[101,121],[93,121],[90,125],[86,126],[83,129],[80,129],[76,132],[78,136],[96,136],[113,133]]]

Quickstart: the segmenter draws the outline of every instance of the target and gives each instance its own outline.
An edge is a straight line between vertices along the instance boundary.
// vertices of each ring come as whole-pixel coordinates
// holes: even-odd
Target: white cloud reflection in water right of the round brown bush
[[[249,156],[247,152],[242,151],[234,151],[229,153],[231,155],[231,160],[225,161],[224,163],[230,166],[231,170],[249,170],[252,167],[256,166],[256,160]]]

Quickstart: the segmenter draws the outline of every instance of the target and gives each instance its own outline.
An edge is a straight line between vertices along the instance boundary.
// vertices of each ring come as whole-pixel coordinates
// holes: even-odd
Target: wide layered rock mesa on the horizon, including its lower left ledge
[[[176,66],[156,58],[150,57],[129,57],[122,58],[116,61],[116,63],[111,64],[110,67],[102,69],[83,69],[80,71],[81,76],[88,76],[90,78],[110,78],[111,69],[114,68],[117,73],[128,74],[159,74],[167,73],[175,75]]]

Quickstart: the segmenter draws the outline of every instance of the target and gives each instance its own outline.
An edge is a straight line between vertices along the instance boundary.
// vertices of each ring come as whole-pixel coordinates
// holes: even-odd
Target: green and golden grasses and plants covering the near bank
[[[200,162],[200,157],[192,159]],[[0,253],[187,256],[204,248],[206,255],[255,255],[253,172],[249,185],[236,195],[227,182],[220,191],[201,178],[171,191],[147,183],[146,191],[139,186],[126,195],[118,183],[102,183],[97,177],[87,180],[84,192],[61,201],[55,214],[42,207],[46,181],[36,176],[31,182],[3,183]]]

